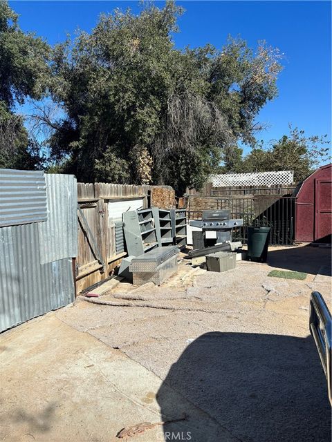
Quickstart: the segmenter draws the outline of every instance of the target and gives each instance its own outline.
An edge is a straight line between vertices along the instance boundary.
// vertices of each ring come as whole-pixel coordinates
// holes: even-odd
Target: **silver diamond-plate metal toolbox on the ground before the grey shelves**
[[[178,247],[167,246],[148,251],[131,260],[129,270],[133,273],[133,285],[154,282],[161,285],[178,268]]]

